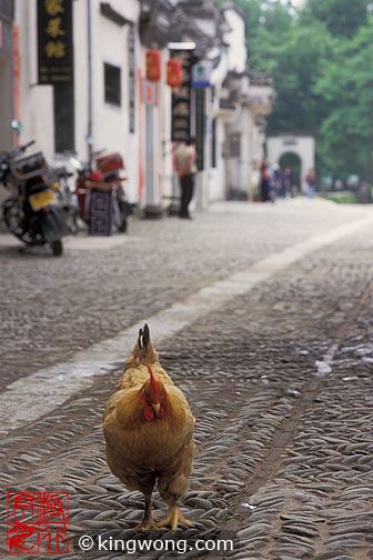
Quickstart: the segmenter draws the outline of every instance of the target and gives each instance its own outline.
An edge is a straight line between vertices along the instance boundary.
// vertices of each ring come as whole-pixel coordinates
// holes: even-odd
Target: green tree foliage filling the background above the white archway
[[[373,4],[306,0],[295,10],[291,1],[234,1],[251,69],[274,79],[268,133],[310,132],[319,173],[372,180]]]

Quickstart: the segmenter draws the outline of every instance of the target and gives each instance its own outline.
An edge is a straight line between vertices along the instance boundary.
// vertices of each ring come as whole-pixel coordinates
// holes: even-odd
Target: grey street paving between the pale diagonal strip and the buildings
[[[271,206],[219,203],[188,223],[131,219],[125,242],[105,251],[82,251],[77,243],[85,238],[70,239],[63,259],[0,243],[0,388],[371,210],[301,198]],[[110,246],[110,238],[104,241]]]

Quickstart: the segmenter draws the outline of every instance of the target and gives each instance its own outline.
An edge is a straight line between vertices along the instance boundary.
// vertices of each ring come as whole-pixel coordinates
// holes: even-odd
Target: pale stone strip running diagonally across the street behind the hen
[[[280,253],[272,254],[249,269],[202,288],[184,301],[173,303],[169,309],[139,321],[113,339],[93,344],[85,351],[77,352],[68,362],[59,363],[51,369],[41,370],[14,381],[0,396],[1,432],[7,433],[9,430],[48,413],[56,406],[62,404],[73,392],[89,388],[92,383],[92,377],[102,376],[112,370],[115,362],[122,360],[123,354],[130,353],[133,347],[133,333],[144,321],[151,324],[153,340],[160,344],[182,328],[191,324],[195,319],[223,306],[232,298],[248,292],[255,284],[264,282],[304,254],[351,234],[372,222],[373,217],[369,216],[363,220],[353,221],[290,247]],[[20,399],[23,403],[21,409],[18,406]]]

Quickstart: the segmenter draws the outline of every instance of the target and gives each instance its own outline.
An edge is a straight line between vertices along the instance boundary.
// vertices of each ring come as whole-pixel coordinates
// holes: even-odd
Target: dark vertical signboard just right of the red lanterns
[[[171,140],[185,142],[191,137],[192,50],[173,50],[172,58],[182,62],[182,83],[172,91]]]

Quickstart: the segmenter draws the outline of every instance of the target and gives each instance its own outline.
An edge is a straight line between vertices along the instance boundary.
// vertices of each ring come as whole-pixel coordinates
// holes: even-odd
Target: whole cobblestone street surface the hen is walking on
[[[60,259],[1,234],[1,558],[7,492],[60,490],[59,558],[373,559],[372,210],[218,203],[133,218],[99,249],[69,238]],[[183,553],[97,547],[142,538],[143,497],[109,471],[101,422],[144,320],[196,418]]]

